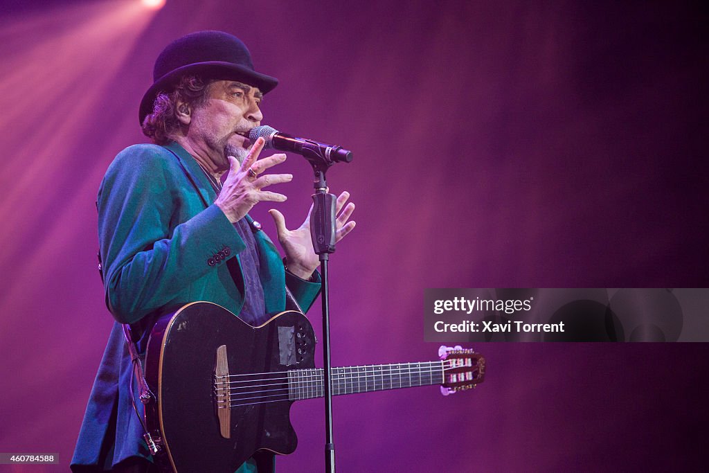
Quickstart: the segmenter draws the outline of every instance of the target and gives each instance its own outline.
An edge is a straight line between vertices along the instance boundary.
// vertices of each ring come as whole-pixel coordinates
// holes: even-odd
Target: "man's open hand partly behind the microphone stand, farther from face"
[[[354,221],[348,222],[354,211],[354,204],[350,202],[350,204],[345,206],[345,202],[347,202],[349,198],[350,193],[347,191],[337,196],[335,214],[339,213],[339,215],[335,221],[335,242],[342,240],[342,237],[350,233],[352,228],[354,228]],[[295,230],[288,230],[283,214],[273,208],[269,210],[269,213],[276,223],[278,240],[283,250],[286,252],[288,270],[301,279],[311,277],[320,262],[318,255],[316,255],[315,250],[313,250],[313,241],[311,240],[310,234],[310,216],[312,211],[313,206],[311,205],[308,216],[306,216],[306,220],[301,226]]]

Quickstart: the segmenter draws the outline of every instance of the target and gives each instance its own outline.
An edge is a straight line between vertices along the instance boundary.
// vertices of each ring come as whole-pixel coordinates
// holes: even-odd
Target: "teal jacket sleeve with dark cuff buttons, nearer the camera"
[[[123,150],[99,189],[99,243],[106,305],[119,323],[135,323],[168,304],[191,282],[223,265],[245,244],[211,205],[177,221],[177,162],[156,145]]]

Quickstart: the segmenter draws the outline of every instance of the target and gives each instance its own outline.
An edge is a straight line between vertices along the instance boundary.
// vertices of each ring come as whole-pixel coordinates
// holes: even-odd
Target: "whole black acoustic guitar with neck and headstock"
[[[160,318],[145,357],[155,394],[145,418],[163,463],[174,472],[233,472],[255,452],[287,455],[298,440],[294,401],[323,396],[316,337],[302,313],[285,311],[259,327],[210,302]],[[444,394],[484,380],[473,350],[441,347],[439,360],[339,367],[333,396],[440,384]],[[164,454],[164,455],[163,455]]]

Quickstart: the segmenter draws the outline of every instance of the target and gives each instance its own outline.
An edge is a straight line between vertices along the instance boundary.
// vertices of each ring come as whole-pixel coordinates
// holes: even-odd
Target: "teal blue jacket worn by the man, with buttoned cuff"
[[[121,323],[132,325],[144,352],[157,317],[184,304],[210,301],[240,312],[241,265],[235,274],[226,261],[239,261],[246,245],[212,204],[215,199],[206,174],[177,143],[130,146],[108,167],[97,201],[99,244],[106,306],[116,323],[91,389],[72,468],[95,465],[100,471],[131,456],[148,457],[130,403],[130,356]],[[286,284],[307,311],[320,291],[319,276],[307,282],[286,273],[272,241],[255,227],[267,313],[284,311]],[[135,395],[135,382],[133,389]]]

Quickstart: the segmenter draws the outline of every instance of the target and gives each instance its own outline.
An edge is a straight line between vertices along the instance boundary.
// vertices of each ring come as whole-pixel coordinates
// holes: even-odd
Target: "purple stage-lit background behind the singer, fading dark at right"
[[[112,322],[96,190],[145,141],[155,57],[194,30],[238,35],[279,77],[264,123],[354,150],[328,175],[357,204],[331,267],[334,365],[434,359],[427,287],[709,285],[700,2],[31,3],[0,17],[1,452],[69,462]],[[282,170],[294,226],[311,171]],[[704,344],[475,347],[475,391],[335,399],[338,469],[681,469],[705,447]],[[279,471],[323,469],[322,411],[294,404]]]

